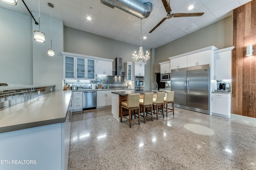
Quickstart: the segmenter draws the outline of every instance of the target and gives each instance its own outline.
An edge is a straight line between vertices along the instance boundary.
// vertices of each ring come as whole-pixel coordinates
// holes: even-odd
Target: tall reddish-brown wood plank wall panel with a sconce
[[[256,0],[233,10],[231,113],[256,118]],[[246,46],[253,56],[246,57]]]

